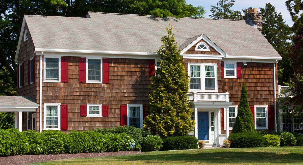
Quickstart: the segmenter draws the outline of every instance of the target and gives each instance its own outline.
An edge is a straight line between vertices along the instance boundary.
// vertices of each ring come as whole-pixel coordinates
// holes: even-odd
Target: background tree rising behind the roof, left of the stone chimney
[[[212,15],[210,18],[216,19],[242,19],[243,16],[240,11],[231,10],[235,0],[220,0],[217,2],[217,6],[211,5],[210,11]]]

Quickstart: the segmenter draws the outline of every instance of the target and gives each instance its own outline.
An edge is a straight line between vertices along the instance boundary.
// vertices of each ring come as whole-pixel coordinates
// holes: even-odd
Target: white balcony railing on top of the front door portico
[[[229,101],[228,92],[226,93],[189,93],[188,101]]]

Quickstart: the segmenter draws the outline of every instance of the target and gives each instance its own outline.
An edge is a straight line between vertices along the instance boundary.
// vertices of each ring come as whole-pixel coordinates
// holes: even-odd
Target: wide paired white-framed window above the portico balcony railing
[[[188,64],[189,91],[217,92],[217,64]]]

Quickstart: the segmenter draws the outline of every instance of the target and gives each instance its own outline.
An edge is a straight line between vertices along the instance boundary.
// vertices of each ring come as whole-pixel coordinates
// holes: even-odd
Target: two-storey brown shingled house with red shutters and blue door
[[[190,134],[222,144],[235,123],[243,81],[256,129],[276,131],[282,58],[254,24],[261,19],[250,18],[24,15],[15,56],[20,101],[7,101],[0,111],[15,112],[20,131],[142,127],[156,51],[170,24],[190,76],[188,101],[196,122]]]

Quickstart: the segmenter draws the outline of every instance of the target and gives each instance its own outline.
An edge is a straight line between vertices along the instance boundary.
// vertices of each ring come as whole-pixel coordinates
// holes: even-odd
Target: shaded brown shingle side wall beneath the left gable
[[[28,30],[27,24],[25,23],[24,31],[25,29]],[[17,95],[18,96],[33,96],[38,103],[39,101],[39,96],[38,96],[38,90],[39,90],[39,64],[38,64],[38,58],[36,57],[35,59],[35,83],[33,84],[28,84],[28,71],[29,71],[29,66],[28,66],[28,60],[30,58],[34,57],[34,51],[35,51],[35,46],[32,41],[32,37],[30,35],[30,31],[28,30],[28,40],[24,41],[23,35],[24,31],[21,32],[21,44],[20,44],[20,50],[19,50],[19,55],[18,55],[18,63],[22,64],[24,63],[24,87],[21,87],[17,89]],[[21,74],[21,73],[20,73]],[[37,109],[38,112],[38,109]],[[32,114],[30,114],[32,115]],[[36,120],[37,122],[39,121],[39,114],[37,113]],[[26,112],[23,113],[23,118],[22,118],[22,130],[26,130],[26,118],[27,114]],[[37,124],[36,124],[37,125]],[[31,126],[32,128],[32,126]],[[38,128],[38,127],[37,127]],[[37,130],[37,129],[36,129]]]

